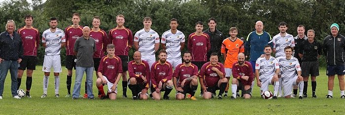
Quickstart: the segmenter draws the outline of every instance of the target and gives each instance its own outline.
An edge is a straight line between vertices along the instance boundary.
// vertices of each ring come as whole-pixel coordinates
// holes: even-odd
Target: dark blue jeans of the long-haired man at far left
[[[18,61],[12,61],[12,60],[3,60],[0,64],[0,96],[2,96],[3,93],[3,87],[5,83],[5,79],[7,76],[7,73],[11,74],[11,92],[12,96],[18,95],[17,88],[18,88],[18,81],[17,81],[17,74],[18,74]]]

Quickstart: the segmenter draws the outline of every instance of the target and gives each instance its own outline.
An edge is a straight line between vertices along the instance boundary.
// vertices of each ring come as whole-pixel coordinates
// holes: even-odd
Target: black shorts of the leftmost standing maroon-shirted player
[[[20,67],[18,67],[18,70],[36,70],[36,56],[25,55],[19,64]]]

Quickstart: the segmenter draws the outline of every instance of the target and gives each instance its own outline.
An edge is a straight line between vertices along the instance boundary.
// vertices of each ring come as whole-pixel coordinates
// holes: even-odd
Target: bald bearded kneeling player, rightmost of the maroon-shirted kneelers
[[[236,90],[240,89],[244,99],[250,99],[251,97],[251,83],[253,81],[253,69],[249,62],[244,61],[245,57],[243,53],[239,53],[238,62],[233,65],[233,80],[231,82],[231,92],[233,96],[231,99],[236,99]]]

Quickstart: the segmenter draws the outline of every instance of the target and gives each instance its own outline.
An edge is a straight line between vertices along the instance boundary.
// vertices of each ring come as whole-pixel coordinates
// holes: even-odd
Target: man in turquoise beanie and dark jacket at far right
[[[323,52],[326,54],[328,76],[328,94],[326,98],[333,98],[334,77],[338,75],[340,98],[345,98],[345,37],[339,34],[339,25],[331,25],[331,35],[323,40]]]

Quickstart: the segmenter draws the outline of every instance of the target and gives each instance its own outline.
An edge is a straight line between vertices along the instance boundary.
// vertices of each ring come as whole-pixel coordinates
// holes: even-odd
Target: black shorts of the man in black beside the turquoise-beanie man
[[[316,77],[319,75],[319,63],[317,61],[313,62],[302,62],[302,77],[309,77],[309,75]]]

